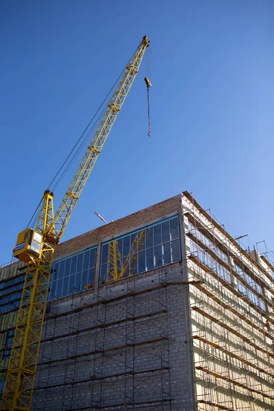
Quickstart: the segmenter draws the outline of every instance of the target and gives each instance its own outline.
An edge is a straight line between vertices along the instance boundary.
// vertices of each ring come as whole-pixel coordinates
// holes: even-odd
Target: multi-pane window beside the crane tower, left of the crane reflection
[[[49,301],[84,291],[94,284],[96,247],[52,265]]]

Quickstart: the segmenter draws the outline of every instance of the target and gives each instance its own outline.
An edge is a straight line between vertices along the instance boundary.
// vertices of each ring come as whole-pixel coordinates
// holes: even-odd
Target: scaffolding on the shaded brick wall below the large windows
[[[168,290],[186,285],[175,266],[51,302],[36,410],[50,402],[68,411],[174,409]]]

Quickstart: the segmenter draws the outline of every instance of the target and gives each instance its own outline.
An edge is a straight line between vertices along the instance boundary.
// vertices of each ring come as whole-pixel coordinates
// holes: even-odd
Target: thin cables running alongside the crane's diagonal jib
[[[140,47],[140,45],[138,45],[138,47],[136,47],[136,50],[134,51],[134,53],[132,54],[132,57],[134,56],[134,54],[136,53],[136,51],[138,50],[138,48]],[[129,62],[132,60],[132,57],[129,59],[129,61],[127,62],[127,65],[129,64]],[[103,115],[103,112],[105,112],[105,108],[107,107],[108,103],[104,105],[105,101],[108,99],[110,93],[112,92],[112,90],[114,89],[114,87],[116,86],[116,84],[118,84],[119,80],[121,79],[123,73],[125,72],[125,69],[123,69],[123,71],[121,71],[121,74],[119,75],[119,77],[116,79],[116,82],[114,82],[112,88],[110,88],[110,91],[108,92],[108,94],[105,96],[105,99],[103,99],[101,105],[99,106],[99,108],[97,109],[97,112],[95,112],[94,116],[92,116],[92,119],[90,120],[90,122],[88,123],[88,125],[86,126],[86,128],[84,129],[84,132],[82,132],[82,135],[79,137],[79,139],[77,140],[77,142],[75,143],[73,149],[71,149],[69,155],[67,155],[66,159],[64,160],[62,166],[60,166],[60,169],[58,170],[58,172],[55,174],[55,176],[53,177],[53,179],[51,180],[49,186],[47,187],[47,189],[49,190],[51,188],[51,186],[53,185],[53,183],[55,182],[55,180],[58,178],[58,175],[60,175],[60,173],[62,172],[62,170],[64,169],[64,167],[66,166],[66,168],[64,169],[64,171],[62,172],[62,175],[60,175],[60,177],[58,178],[57,182],[55,182],[55,185],[53,186],[53,188],[51,189],[52,191],[55,190],[58,185],[60,184],[60,182],[62,181],[62,179],[64,178],[64,175],[66,175],[66,173],[69,171],[69,169],[71,168],[71,165],[73,164],[75,158],[77,157],[77,155],[79,154],[79,151],[82,149],[84,143],[86,142],[86,140],[88,139],[88,137],[90,136],[91,132],[93,129],[95,129],[95,127],[97,126],[97,124],[99,123],[99,121],[101,120],[101,116]],[[109,101],[108,101],[109,102]],[[103,110],[101,110],[101,108],[103,107]],[[97,114],[99,113],[99,111],[101,110],[101,113],[99,114],[97,121],[95,121],[95,124],[92,126],[92,128],[89,130],[88,134],[86,135],[86,137],[84,138],[84,140],[82,141],[81,145],[79,145],[80,141],[82,140],[82,138],[84,137],[84,135],[86,134],[86,132],[88,131],[88,128],[90,127],[92,121],[95,120],[95,117],[97,116]],[[77,147],[78,146],[78,147]],[[77,148],[77,150],[76,150]],[[76,152],[73,154],[73,151]],[[71,160],[69,161],[69,158],[71,157],[71,155],[73,154],[73,158],[71,158]],[[67,164],[69,162],[69,164]],[[40,206],[42,204],[42,199],[40,200],[40,203],[38,204],[38,206],[36,207],[36,210],[34,211],[34,214],[32,214],[31,219],[29,220],[29,223],[27,224],[27,227],[34,227],[34,225],[36,224],[36,221],[38,220],[38,216],[40,214]]]

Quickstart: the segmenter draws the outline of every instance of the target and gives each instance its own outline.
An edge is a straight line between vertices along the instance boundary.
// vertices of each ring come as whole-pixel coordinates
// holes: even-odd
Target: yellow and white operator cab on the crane
[[[41,246],[41,234],[32,228],[27,228],[18,234],[13,255],[23,262],[31,262],[40,256]]]

